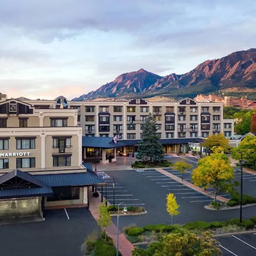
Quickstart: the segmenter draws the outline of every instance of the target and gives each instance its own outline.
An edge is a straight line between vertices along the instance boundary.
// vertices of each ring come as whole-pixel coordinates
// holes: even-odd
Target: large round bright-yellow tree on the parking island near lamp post
[[[230,191],[233,186],[234,169],[225,154],[214,153],[198,161],[198,167],[192,171],[195,186],[214,189],[214,201],[220,190]]]

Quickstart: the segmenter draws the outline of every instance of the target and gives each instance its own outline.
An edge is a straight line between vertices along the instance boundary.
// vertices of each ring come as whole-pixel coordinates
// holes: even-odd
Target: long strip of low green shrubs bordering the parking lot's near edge
[[[177,232],[179,230],[189,230],[191,232],[200,234],[204,231],[210,231],[213,235],[220,235],[226,233],[235,233],[245,230],[253,230],[256,225],[256,216],[250,220],[242,220],[240,224],[239,218],[229,219],[227,221],[194,221],[188,222],[184,225],[166,225],[155,224],[144,227],[125,227],[124,232],[127,239],[131,243],[152,242],[158,241],[164,234]]]

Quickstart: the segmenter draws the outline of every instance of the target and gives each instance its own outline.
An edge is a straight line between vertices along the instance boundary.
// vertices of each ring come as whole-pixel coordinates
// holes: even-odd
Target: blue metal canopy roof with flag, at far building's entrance
[[[87,148],[117,148],[122,147],[122,140],[113,142],[112,137],[82,137],[82,146]]]

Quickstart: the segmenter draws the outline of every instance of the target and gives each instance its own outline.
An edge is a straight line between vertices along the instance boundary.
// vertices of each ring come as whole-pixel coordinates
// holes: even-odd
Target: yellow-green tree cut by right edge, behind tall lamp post
[[[247,160],[248,163],[253,165],[253,169],[256,166],[256,137],[248,135],[244,137],[238,147],[233,148],[232,158],[236,160],[241,159],[241,152],[243,153],[243,160]]]

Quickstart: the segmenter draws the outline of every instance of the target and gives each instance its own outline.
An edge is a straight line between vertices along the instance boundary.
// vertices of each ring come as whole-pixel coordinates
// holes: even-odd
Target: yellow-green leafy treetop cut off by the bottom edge
[[[132,256],[218,256],[221,250],[209,232],[197,236],[187,230],[170,233],[163,239],[148,245],[146,249],[135,247]]]

